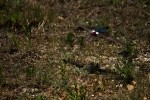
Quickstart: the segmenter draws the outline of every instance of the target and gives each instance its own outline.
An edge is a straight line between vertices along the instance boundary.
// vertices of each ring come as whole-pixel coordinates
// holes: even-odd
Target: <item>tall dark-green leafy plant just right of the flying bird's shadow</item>
[[[129,84],[134,79],[133,55],[135,54],[131,42],[128,42],[124,48],[125,52],[120,59],[121,64],[116,66],[117,72],[121,75],[124,82]]]

